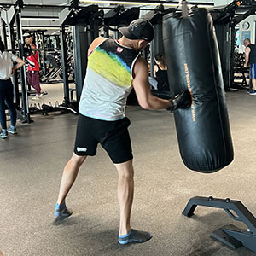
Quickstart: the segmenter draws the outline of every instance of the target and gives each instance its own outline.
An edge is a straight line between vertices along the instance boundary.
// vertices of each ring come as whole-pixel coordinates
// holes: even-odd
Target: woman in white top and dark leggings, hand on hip
[[[13,62],[17,64],[13,66]],[[1,121],[1,133],[0,138],[6,138],[9,133],[16,134],[16,110],[14,103],[14,86],[10,77],[14,71],[25,64],[18,56],[13,55],[5,49],[5,45],[0,38],[0,121]],[[5,102],[9,108],[11,125],[7,129],[6,114],[5,114]]]

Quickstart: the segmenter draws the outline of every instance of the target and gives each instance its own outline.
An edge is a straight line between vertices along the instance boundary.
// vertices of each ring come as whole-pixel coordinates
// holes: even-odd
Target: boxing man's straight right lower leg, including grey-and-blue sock
[[[131,206],[133,201],[134,181],[132,160],[115,164],[119,172],[118,199],[120,207],[119,244],[145,242],[152,238],[148,232],[131,229]]]

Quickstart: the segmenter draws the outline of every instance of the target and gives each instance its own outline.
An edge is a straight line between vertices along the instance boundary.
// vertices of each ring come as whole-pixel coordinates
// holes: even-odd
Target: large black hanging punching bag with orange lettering
[[[183,18],[164,17],[163,40],[172,95],[189,89],[191,108],[174,112],[179,150],[185,166],[217,172],[233,160],[218,44],[207,9]]]

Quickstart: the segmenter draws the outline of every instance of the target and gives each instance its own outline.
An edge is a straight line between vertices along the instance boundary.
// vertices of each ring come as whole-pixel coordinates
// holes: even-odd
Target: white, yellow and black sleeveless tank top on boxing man
[[[116,40],[106,39],[88,56],[79,113],[113,121],[125,117],[132,89],[132,70],[138,53]]]

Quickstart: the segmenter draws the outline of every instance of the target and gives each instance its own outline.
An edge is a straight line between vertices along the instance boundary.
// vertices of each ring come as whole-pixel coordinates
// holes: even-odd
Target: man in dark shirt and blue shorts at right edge
[[[253,89],[250,90],[250,95],[256,95],[256,45],[251,43],[249,38],[244,39],[243,45],[245,49],[244,67],[250,65],[250,79],[252,79]]]

